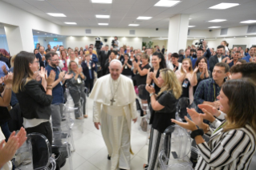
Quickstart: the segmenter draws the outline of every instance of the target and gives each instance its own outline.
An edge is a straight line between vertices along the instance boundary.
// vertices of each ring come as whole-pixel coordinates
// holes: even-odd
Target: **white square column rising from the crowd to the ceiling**
[[[169,19],[168,52],[185,50],[189,27],[189,14],[177,14]]]

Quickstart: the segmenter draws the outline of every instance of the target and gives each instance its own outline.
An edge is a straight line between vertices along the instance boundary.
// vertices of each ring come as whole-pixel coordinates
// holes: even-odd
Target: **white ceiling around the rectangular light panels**
[[[137,28],[168,28],[169,18],[176,14],[190,14],[191,30],[209,30],[209,26],[244,26],[239,22],[256,18],[256,0],[181,0],[177,6],[156,7],[159,0],[113,0],[112,4],[95,4],[91,0],[2,0],[22,10],[45,18],[61,26],[64,22],[76,22],[76,26],[105,27],[98,23],[108,22],[108,27],[128,28],[138,23]],[[209,10],[221,2],[239,3],[227,10]],[[67,17],[51,17],[47,13],[63,13]],[[95,14],[109,14],[110,18],[95,18]],[[150,20],[136,20],[138,16],[152,17]],[[207,22],[213,19],[227,19],[226,22]]]

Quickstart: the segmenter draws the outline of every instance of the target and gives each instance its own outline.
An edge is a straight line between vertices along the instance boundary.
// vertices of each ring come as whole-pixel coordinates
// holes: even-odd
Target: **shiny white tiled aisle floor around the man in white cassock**
[[[92,101],[87,99],[87,119],[84,119],[83,133],[81,128],[74,127],[73,136],[75,140],[75,152],[72,152],[74,170],[108,170],[110,169],[110,160],[107,159],[108,151],[104,144],[104,139],[100,130],[94,127],[92,122]],[[140,130],[140,119],[132,122],[132,151],[131,169],[141,170],[143,164],[147,163],[148,145],[147,133]],[[67,163],[62,170],[70,170]]]

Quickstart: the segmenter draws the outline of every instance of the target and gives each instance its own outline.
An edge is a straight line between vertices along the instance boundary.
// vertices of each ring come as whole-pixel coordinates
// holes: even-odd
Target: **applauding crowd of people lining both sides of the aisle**
[[[120,74],[132,81],[134,91],[140,85],[148,91],[148,99],[141,100],[151,106],[152,124],[144,169],[159,167],[161,136],[174,123],[189,129],[196,140],[200,157],[195,169],[249,168],[256,149],[255,46],[229,49],[223,41],[214,50],[204,41],[201,47],[192,45],[168,54],[165,47],[160,50],[158,46],[119,46],[120,42],[95,51],[93,44],[74,49],[51,48],[50,44],[45,49],[38,45],[34,54],[21,51],[9,58],[0,51],[0,140],[6,139],[9,146],[20,139],[16,141],[17,149],[24,142],[24,133],[39,132],[51,143],[50,117],[52,126],[60,129],[65,90],[71,88],[71,97],[76,101],[81,95],[81,84],[89,94],[97,79],[109,73],[118,78],[119,70],[110,69],[111,63],[118,60]],[[175,120],[177,101],[181,98],[189,99],[188,115],[182,118],[186,123]],[[87,118],[85,112],[83,116],[75,113],[75,118]],[[10,133],[19,129],[22,135],[15,137]],[[211,136],[208,144],[201,138],[203,134]],[[3,143],[0,157],[6,153],[2,146]],[[3,164],[1,160],[0,168]]]

